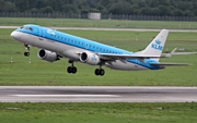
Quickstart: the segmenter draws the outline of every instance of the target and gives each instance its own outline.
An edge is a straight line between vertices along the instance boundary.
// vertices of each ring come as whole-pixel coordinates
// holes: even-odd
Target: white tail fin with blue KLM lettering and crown
[[[158,56],[160,57],[162,53],[162,50],[165,45],[165,40],[167,38],[169,30],[167,29],[162,29],[160,34],[149,44],[149,46],[140,51],[139,53],[141,54],[147,54],[147,56]],[[154,59],[155,61],[159,61],[160,59]]]

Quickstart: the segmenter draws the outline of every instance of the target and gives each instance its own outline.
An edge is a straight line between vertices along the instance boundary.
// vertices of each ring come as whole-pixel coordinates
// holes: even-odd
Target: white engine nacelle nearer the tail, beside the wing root
[[[80,54],[80,61],[91,65],[97,65],[101,62],[100,57],[92,52],[82,52]]]

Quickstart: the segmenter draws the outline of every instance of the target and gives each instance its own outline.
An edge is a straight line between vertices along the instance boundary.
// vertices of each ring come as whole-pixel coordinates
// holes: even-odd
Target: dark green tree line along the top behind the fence
[[[196,0],[0,0],[0,12],[197,16]]]

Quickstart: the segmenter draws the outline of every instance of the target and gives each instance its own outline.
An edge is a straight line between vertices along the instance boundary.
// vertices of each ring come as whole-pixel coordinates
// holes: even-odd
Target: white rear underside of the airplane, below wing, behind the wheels
[[[113,64],[105,64],[107,67],[111,67],[113,70],[123,70],[123,71],[139,71],[139,70],[148,70],[144,66],[141,66],[139,64],[130,63],[130,62],[121,62],[117,60],[116,62],[113,62]]]

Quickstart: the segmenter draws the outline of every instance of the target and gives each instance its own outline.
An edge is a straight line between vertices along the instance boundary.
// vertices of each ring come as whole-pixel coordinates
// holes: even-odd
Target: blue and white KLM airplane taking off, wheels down
[[[71,64],[67,67],[68,73],[77,73],[74,62],[99,65],[94,71],[97,76],[105,74],[103,66],[113,70],[139,71],[161,70],[167,65],[188,65],[159,62],[167,35],[169,30],[162,29],[144,50],[130,52],[34,24],[23,25],[11,33],[13,39],[26,47],[25,57],[30,56],[32,46],[37,47],[39,48],[37,56],[42,60],[55,62],[60,58],[68,59]]]

